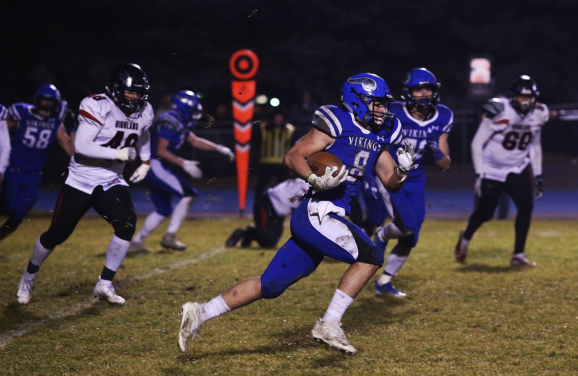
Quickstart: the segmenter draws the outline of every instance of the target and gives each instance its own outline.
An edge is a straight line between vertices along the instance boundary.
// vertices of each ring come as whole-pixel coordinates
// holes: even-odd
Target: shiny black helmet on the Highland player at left
[[[127,113],[135,113],[143,109],[144,103],[149,99],[149,79],[140,66],[132,63],[117,65],[110,72],[109,83],[106,85],[108,96],[121,110]],[[125,91],[136,92],[139,99],[128,99]]]

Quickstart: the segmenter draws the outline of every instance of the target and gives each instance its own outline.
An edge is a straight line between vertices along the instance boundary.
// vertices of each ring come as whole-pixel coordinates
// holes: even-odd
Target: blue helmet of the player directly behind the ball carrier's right
[[[416,107],[418,110],[431,110],[439,103],[439,87],[441,84],[432,72],[425,68],[410,70],[403,78],[403,94],[401,98],[407,106]],[[431,98],[414,98],[412,90],[429,87],[432,90]]]

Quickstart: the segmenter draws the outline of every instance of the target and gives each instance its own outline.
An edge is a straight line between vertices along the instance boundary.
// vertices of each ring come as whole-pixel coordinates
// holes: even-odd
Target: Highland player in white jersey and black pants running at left
[[[149,80],[140,66],[121,64],[110,73],[106,94],[92,94],[80,102],[76,152],[50,228],[36,240],[18,285],[19,303],[28,303],[40,265],[71,236],[80,218],[92,207],[114,229],[92,295],[95,300],[124,304],[112,280],[135,233],[136,214],[123,170],[125,161],[134,161],[137,154],[142,164],[129,181],[143,180],[150,169],[149,128],[154,114],[147,102],[149,90]]]

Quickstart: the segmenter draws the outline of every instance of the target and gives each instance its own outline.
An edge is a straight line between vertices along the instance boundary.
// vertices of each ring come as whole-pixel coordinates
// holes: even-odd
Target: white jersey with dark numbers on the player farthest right
[[[541,150],[540,133],[549,119],[549,110],[536,102],[533,110],[521,115],[507,98],[492,98],[484,110],[487,116],[480,122],[472,142],[476,173],[483,178],[506,181],[509,173],[519,174],[528,166],[531,147]],[[481,159],[475,155],[476,144],[483,150]]]

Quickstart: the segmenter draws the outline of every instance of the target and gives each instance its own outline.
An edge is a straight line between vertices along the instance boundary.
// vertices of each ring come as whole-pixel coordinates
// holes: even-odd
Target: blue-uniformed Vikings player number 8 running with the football
[[[321,106],[313,115],[313,129],[285,155],[283,163],[312,188],[291,215],[291,237],[261,276],[248,278],[207,303],[183,304],[178,342],[186,351],[210,319],[260,299],[274,299],[301,278],[309,276],[325,256],[348,263],[322,318],[313,326],[316,340],[355,354],[341,328],[343,314],[366,282],[383,264],[381,251],[356,225],[344,218],[364,178],[375,169],[387,189],[398,191],[415,165],[413,147],[406,143],[398,165],[387,145],[401,140],[386,81],[372,73],[349,77],[341,90],[341,107]],[[335,154],[343,167],[317,176],[306,158],[317,151]],[[336,176],[333,176],[336,173]]]

